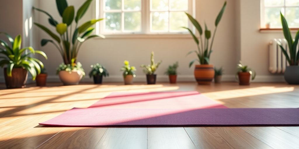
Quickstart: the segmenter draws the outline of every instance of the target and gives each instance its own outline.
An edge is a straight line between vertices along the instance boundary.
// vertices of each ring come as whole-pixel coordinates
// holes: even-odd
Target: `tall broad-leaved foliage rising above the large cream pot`
[[[37,27],[48,33],[48,35],[50,35],[50,37],[53,39],[42,39],[41,45],[45,46],[49,42],[54,44],[54,46],[56,46],[60,52],[60,55],[62,56],[62,59],[66,65],[74,65],[74,63],[76,63],[80,47],[86,40],[94,37],[105,38],[103,35],[91,35],[91,33],[94,31],[94,28],[91,26],[96,24],[98,21],[103,20],[103,18],[92,19],[82,25],[78,25],[80,19],[88,10],[91,2],[92,0],[86,0],[85,3],[77,10],[75,15],[74,6],[68,6],[66,0],[56,0],[57,10],[62,17],[62,22],[60,23],[46,11],[33,7],[34,10],[42,12],[49,17],[49,24],[55,27],[56,32],[58,33],[55,34],[42,24],[34,23]],[[72,30],[73,21],[75,21],[76,24],[74,30]]]

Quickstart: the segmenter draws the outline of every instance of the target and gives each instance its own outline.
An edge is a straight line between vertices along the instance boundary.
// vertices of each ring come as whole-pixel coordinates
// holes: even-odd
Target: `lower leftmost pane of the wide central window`
[[[105,13],[106,30],[121,31],[121,13]]]

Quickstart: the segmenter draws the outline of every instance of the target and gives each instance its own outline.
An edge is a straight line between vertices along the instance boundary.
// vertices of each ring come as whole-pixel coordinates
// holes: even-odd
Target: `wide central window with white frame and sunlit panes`
[[[100,34],[188,33],[194,0],[96,0]]]

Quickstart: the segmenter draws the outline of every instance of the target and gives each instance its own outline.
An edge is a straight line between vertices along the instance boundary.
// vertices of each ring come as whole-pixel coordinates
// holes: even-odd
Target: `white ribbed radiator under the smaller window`
[[[286,61],[286,57],[283,55],[283,52],[280,49],[280,46],[277,44],[279,41],[286,51],[289,52],[287,47],[286,39],[273,39],[269,44],[269,71],[273,74],[284,73],[286,66],[289,64]]]

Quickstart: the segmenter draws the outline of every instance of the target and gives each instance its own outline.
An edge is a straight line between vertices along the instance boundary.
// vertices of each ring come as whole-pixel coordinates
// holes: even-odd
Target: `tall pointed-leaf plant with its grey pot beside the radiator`
[[[283,34],[288,42],[288,49],[282,46],[282,44],[277,41],[280,49],[283,54],[286,56],[286,60],[289,63],[289,66],[286,67],[286,71],[284,73],[284,79],[289,84],[299,84],[299,52],[298,52],[298,40],[299,40],[299,30],[296,34],[295,40],[292,38],[292,34],[290,32],[288,23],[282,13],[280,13],[281,22],[283,27]],[[287,51],[289,50],[289,51]]]

